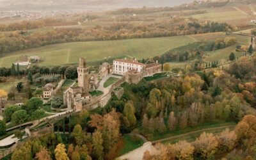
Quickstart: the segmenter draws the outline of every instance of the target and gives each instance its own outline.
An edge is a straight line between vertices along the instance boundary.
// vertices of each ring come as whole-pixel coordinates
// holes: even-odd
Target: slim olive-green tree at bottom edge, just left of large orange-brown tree
[[[92,156],[94,159],[103,159],[103,139],[102,139],[102,134],[99,131],[93,132],[92,135]]]

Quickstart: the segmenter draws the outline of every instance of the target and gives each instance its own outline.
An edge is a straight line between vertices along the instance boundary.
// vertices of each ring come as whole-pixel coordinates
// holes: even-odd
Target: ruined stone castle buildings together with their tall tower
[[[63,102],[69,109],[81,109],[92,98],[93,92],[99,86],[97,74],[89,74],[85,58],[79,59],[77,67],[78,84],[70,86],[63,94]]]

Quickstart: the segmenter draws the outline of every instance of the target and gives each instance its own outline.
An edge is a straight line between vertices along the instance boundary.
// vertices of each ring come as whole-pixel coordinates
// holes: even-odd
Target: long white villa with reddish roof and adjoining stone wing
[[[113,61],[113,73],[124,76],[126,72],[135,70],[141,72],[143,77],[153,76],[159,72],[162,72],[162,65],[157,61],[156,63],[144,64],[136,60],[114,60]]]

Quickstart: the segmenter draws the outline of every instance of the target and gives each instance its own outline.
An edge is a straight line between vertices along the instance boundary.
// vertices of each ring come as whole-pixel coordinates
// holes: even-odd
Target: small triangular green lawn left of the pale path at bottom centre
[[[127,154],[131,150],[139,148],[143,145],[143,140],[141,140],[140,138],[134,138],[129,135],[124,135],[123,140],[124,140],[124,147],[121,148],[120,151],[118,152],[120,156],[123,154]]]

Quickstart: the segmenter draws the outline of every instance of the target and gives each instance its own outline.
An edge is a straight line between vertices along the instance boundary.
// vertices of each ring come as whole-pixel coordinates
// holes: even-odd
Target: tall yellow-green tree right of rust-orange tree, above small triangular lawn
[[[129,120],[129,124],[131,126],[127,127],[134,127],[137,123],[136,116],[135,116],[135,108],[132,101],[129,101],[124,106],[124,116],[127,117]]]

